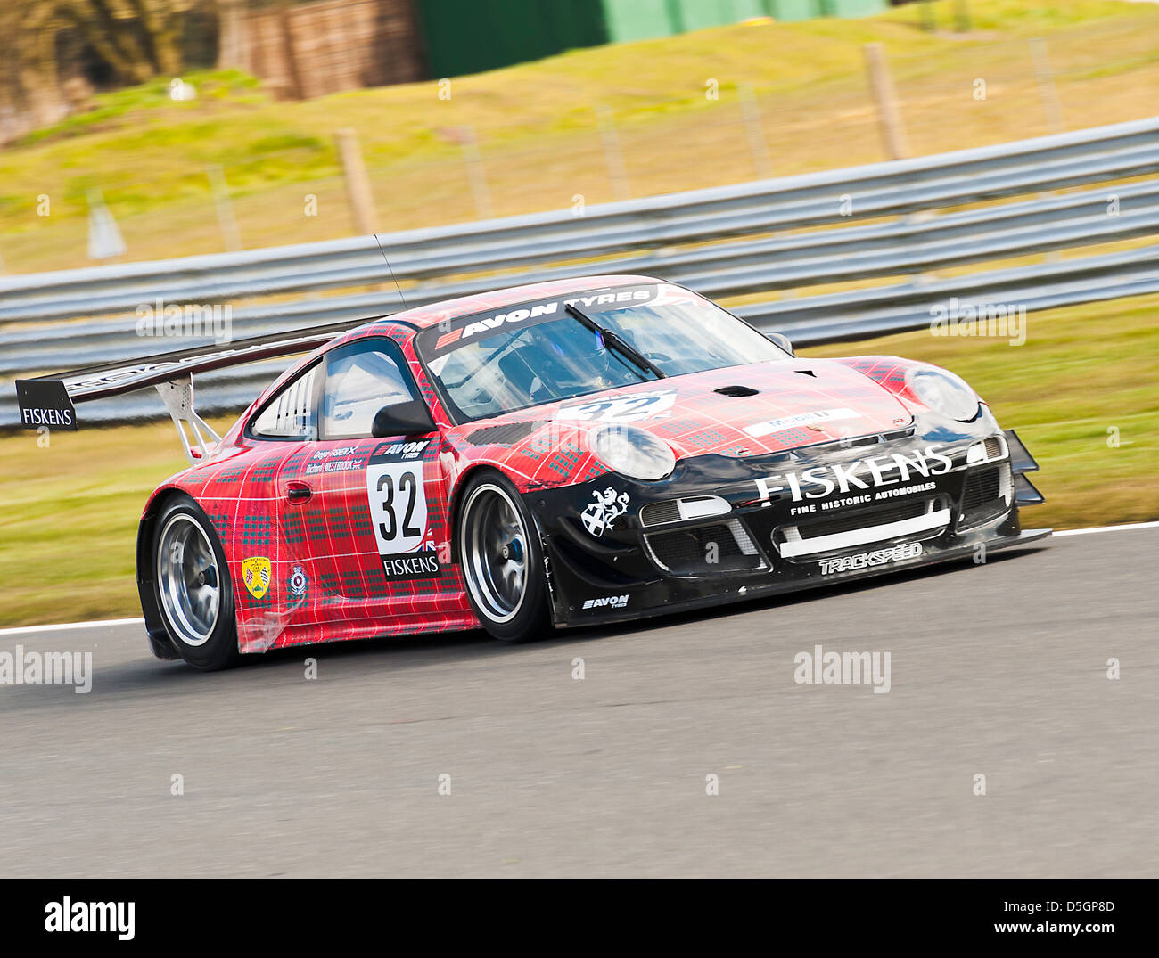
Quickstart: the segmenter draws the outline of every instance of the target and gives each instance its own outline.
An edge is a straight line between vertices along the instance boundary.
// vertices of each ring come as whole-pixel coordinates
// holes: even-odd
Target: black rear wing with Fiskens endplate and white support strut
[[[87,366],[53,375],[16,380],[20,424],[24,429],[76,429],[76,403],[110,398],[155,387],[165,403],[190,461],[199,449],[207,456],[219,437],[194,408],[194,374],[240,366],[279,356],[309,352],[366,320],[347,320],[309,329],[271,332],[238,339],[226,346],[207,345],[127,359],[105,366]],[[190,433],[185,434],[188,425]],[[192,438],[196,445],[190,443]],[[212,441],[211,441],[212,440]]]

